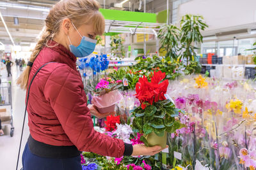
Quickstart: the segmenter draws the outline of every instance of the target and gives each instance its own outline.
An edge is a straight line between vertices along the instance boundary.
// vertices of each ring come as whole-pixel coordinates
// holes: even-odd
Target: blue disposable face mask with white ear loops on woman
[[[71,22],[73,24],[73,22]],[[73,24],[73,26],[76,29],[76,26]],[[76,29],[76,31],[78,32],[78,34],[81,36],[80,32]],[[70,38],[68,36],[68,40],[70,42],[69,48],[70,48],[70,52],[72,52],[76,57],[86,57],[88,55],[90,55],[91,53],[93,53],[96,43],[97,43],[97,39],[91,39],[88,38],[86,36],[81,36],[81,43],[79,44],[79,46],[74,46],[72,45]]]

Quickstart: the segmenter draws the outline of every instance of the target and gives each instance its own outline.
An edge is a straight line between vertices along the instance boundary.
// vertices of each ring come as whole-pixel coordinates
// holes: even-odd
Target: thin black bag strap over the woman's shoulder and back
[[[21,143],[22,143],[22,137],[23,137],[23,131],[24,131],[24,124],[25,124],[25,120],[26,120],[26,113],[27,113],[27,108],[28,108],[28,98],[29,98],[29,91],[30,91],[30,87],[31,84],[33,82],[33,80],[36,77],[36,74],[47,64],[52,63],[52,62],[47,62],[46,64],[44,64],[43,66],[41,66],[35,73],[35,75],[33,76],[31,82],[29,83],[29,87],[28,87],[28,95],[27,95],[27,100],[26,100],[26,108],[25,108],[25,113],[24,113],[24,118],[23,118],[23,124],[22,124],[22,131],[21,131],[21,136],[20,136],[20,146],[19,146],[19,153],[18,153],[18,159],[17,159],[17,165],[16,165],[16,170],[18,170],[18,166],[19,166],[19,157],[20,157],[20,148],[21,148]]]

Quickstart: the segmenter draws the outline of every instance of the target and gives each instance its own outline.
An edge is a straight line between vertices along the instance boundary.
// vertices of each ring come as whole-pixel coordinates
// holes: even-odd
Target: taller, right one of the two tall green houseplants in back
[[[186,61],[186,70],[189,74],[200,71],[200,65],[195,62],[195,43],[202,43],[203,36],[200,31],[208,27],[204,18],[198,15],[184,15],[180,21],[180,56]],[[188,74],[187,73],[187,74]]]

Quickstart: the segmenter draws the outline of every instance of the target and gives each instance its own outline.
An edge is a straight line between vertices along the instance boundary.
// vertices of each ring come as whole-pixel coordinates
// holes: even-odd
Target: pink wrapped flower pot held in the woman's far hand
[[[123,98],[118,90],[114,90],[102,96],[93,96],[92,104],[97,107],[100,113],[115,111],[115,105]]]

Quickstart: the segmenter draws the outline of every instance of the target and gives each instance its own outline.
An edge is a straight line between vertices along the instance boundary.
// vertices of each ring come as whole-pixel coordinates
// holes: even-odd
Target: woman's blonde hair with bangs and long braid
[[[45,19],[44,31],[31,53],[29,61],[33,63],[42,48],[47,46],[49,39],[54,38],[58,34],[61,22],[65,18],[70,18],[77,27],[82,24],[92,23],[95,33],[103,34],[105,21],[99,12],[99,8],[99,3],[95,0],[62,0],[56,3]],[[51,46],[49,47],[51,48]],[[31,67],[27,66],[18,78],[17,85],[20,85],[21,89],[27,89],[30,71]]]

